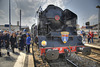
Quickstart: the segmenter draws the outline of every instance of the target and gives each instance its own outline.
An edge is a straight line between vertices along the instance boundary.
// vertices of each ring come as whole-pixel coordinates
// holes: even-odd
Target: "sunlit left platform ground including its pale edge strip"
[[[7,56],[6,49],[2,48],[2,57],[0,57],[0,67],[34,67],[32,46],[30,47],[30,53],[26,51],[19,51],[15,48],[15,53],[10,52],[10,56]]]

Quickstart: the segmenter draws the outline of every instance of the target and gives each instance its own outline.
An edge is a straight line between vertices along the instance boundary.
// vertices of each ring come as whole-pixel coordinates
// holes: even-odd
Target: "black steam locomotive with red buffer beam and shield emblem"
[[[38,24],[33,25],[32,31],[43,59],[56,60],[61,54],[69,57],[72,52],[91,53],[91,49],[84,46],[82,37],[77,35],[75,13],[55,5],[48,5],[38,13]]]

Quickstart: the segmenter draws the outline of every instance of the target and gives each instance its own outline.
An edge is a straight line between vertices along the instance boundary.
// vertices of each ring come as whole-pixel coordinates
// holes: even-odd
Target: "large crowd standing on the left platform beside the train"
[[[12,52],[15,53],[15,48],[18,48],[19,51],[23,51],[25,48],[26,53],[30,53],[30,41],[30,33],[21,31],[0,31],[0,57],[2,57],[1,48],[5,48],[7,50],[8,56],[10,56],[9,50],[12,50]]]

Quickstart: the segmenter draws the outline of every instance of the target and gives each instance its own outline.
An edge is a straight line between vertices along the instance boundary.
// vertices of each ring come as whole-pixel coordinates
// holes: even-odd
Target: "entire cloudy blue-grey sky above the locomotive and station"
[[[30,26],[36,23],[36,11],[39,6],[44,10],[47,5],[54,4],[64,9],[70,9],[78,15],[78,24],[84,25],[98,22],[98,9],[100,0],[11,0],[11,24],[19,21],[19,10],[22,10],[22,25]],[[9,0],[0,0],[0,25],[9,23]]]

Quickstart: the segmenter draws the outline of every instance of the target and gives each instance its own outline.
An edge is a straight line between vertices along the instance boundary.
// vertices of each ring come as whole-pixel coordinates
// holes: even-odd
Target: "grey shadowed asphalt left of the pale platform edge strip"
[[[10,56],[7,56],[7,50],[1,49],[2,57],[0,57],[0,67],[13,67],[18,56],[20,55],[18,49],[15,49],[15,53],[10,52]]]

